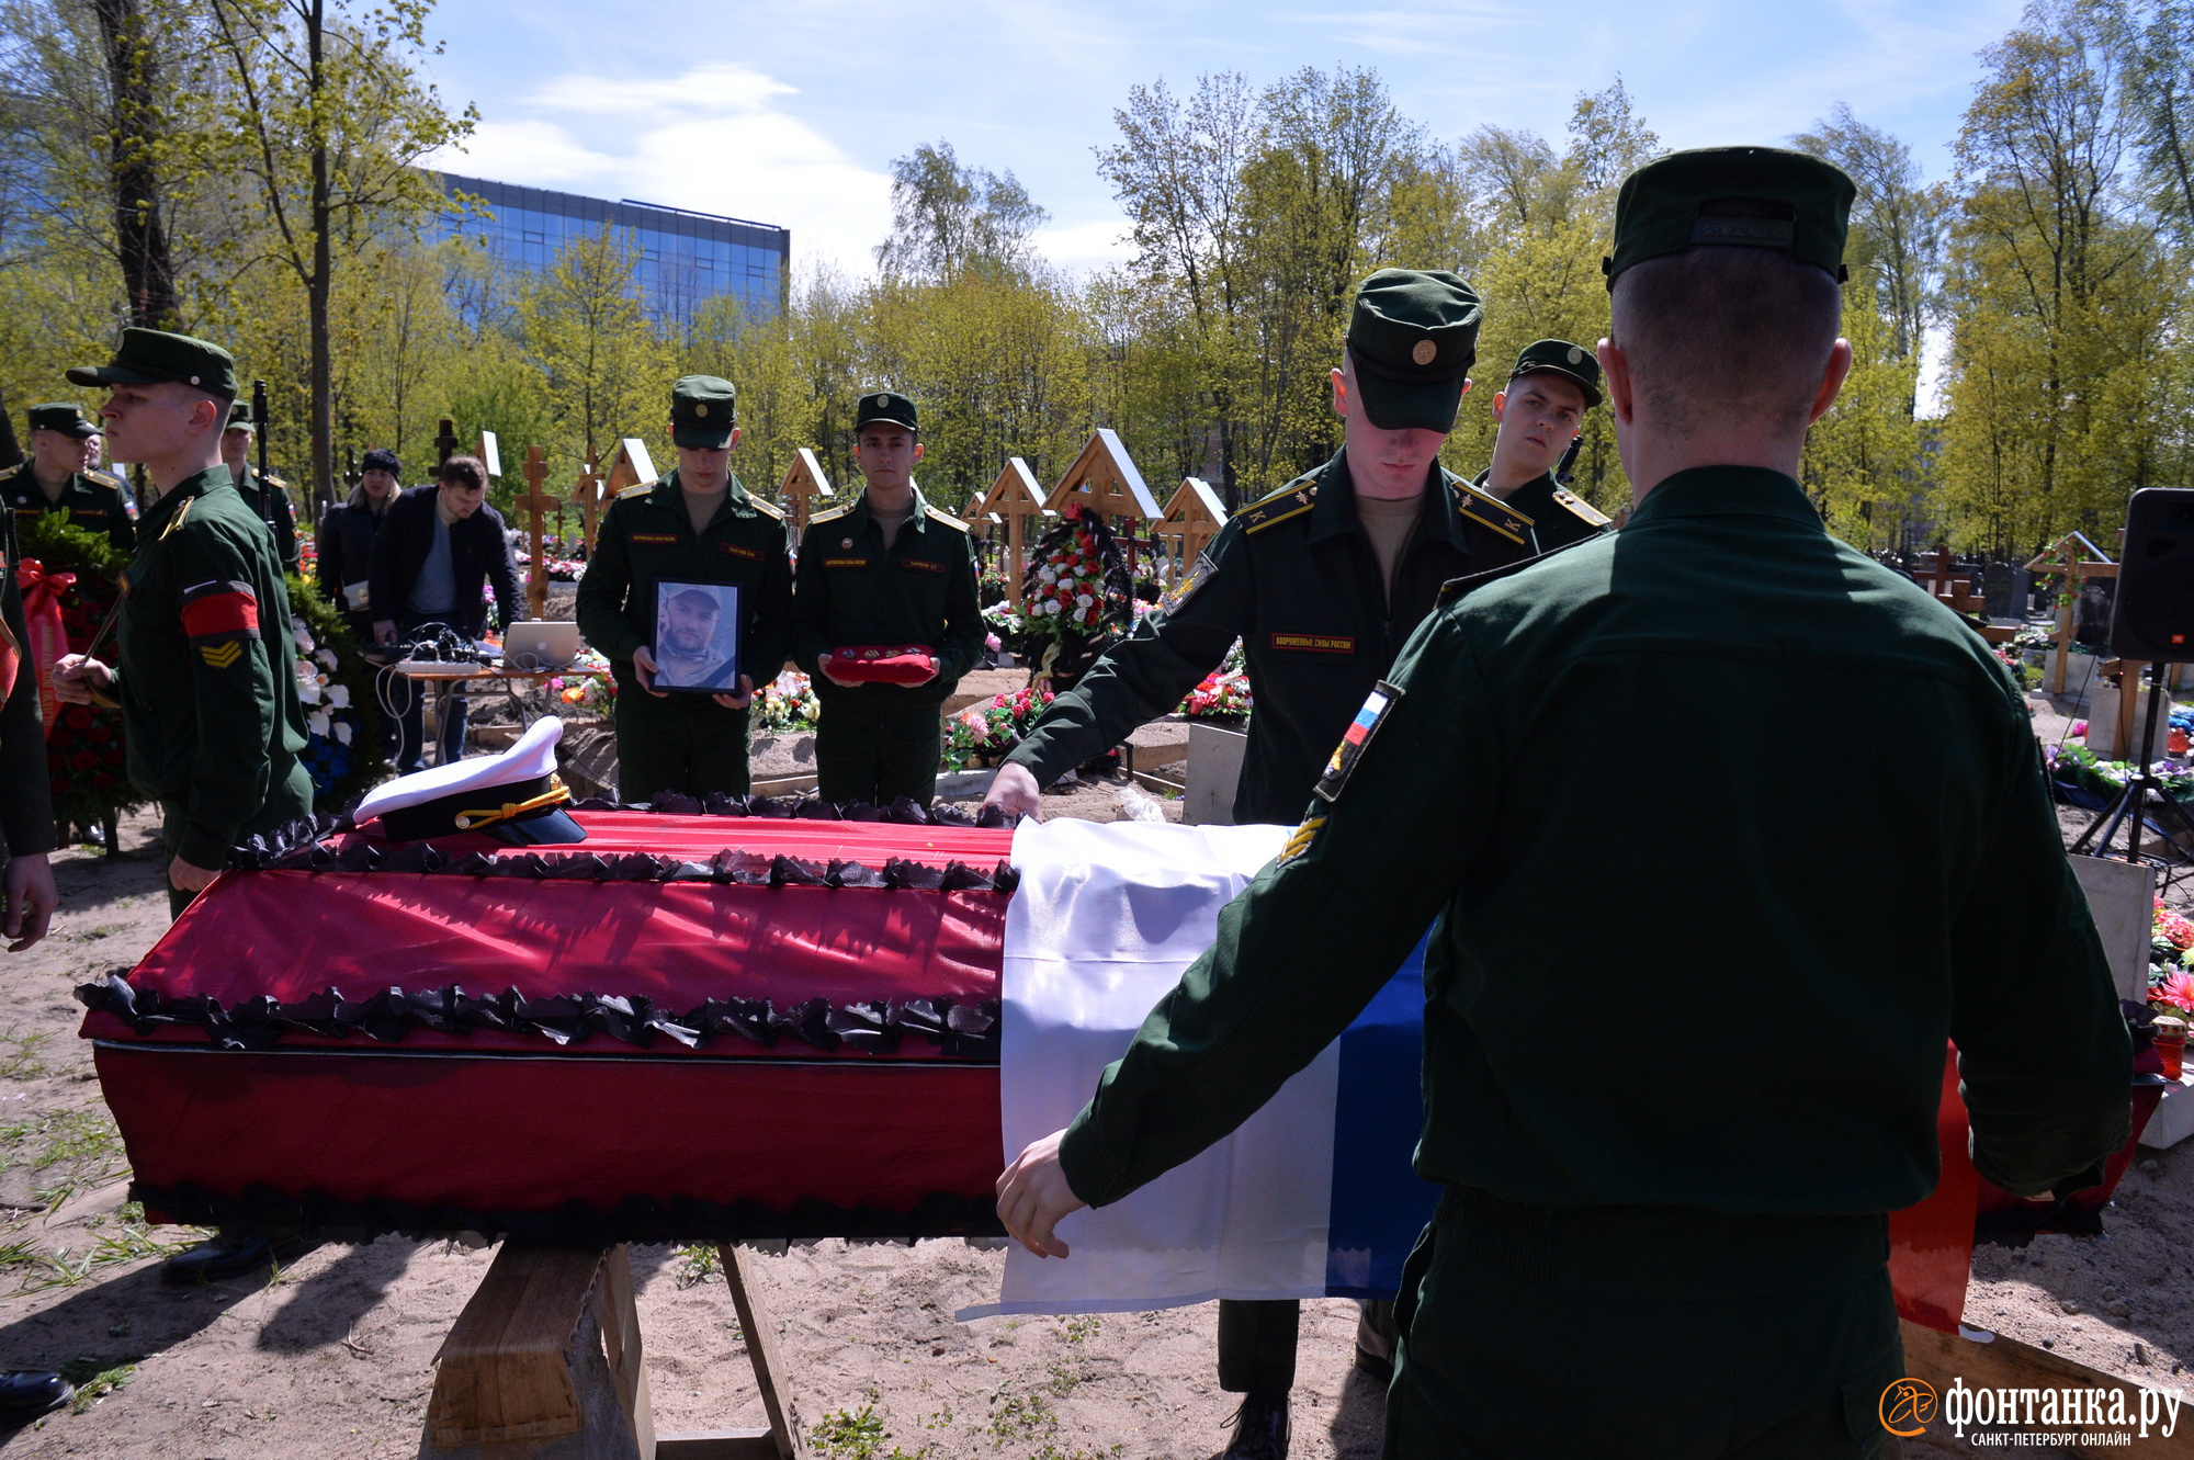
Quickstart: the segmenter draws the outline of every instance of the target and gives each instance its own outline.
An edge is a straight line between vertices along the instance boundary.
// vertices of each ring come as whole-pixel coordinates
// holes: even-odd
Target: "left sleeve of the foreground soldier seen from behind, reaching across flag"
[[[1393,976],[1479,855],[1505,761],[1463,634],[1417,627],[1283,853],[1220,914],[1060,1144],[1104,1206],[1248,1120]]]

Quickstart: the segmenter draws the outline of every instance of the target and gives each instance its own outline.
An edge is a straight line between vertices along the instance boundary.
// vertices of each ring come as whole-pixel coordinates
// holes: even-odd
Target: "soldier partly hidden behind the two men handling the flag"
[[[1582,344],[1538,340],[1516,355],[1507,388],[1494,392],[1494,465],[1472,487],[1531,520],[1531,548],[1553,552],[1597,537],[1608,515],[1553,480],[1584,412],[1599,406],[1599,362]]]

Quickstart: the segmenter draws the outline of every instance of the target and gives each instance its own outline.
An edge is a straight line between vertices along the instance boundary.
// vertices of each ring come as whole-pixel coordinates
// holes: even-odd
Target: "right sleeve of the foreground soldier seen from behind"
[[[1972,1164],[2038,1197],[2095,1186],[2126,1144],[2133,1041],[2065,859],[2034,730],[2023,712],[2005,723],[1994,822],[1950,938],[1950,1039]]]

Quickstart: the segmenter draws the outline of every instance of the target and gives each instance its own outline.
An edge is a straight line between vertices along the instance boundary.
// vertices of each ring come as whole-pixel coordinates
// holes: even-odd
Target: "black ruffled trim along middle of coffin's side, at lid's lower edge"
[[[634,1048],[647,1048],[656,1035],[667,1035],[689,1050],[717,1039],[746,1039],[764,1048],[779,1039],[805,1043],[836,1054],[889,1054],[906,1037],[928,1039],[939,1054],[976,1065],[998,1063],[998,1000],[856,1000],[832,1004],[805,1000],[777,1008],[770,1000],[709,1000],[689,1013],[658,1008],[647,997],[612,993],[577,993],[529,1000],[518,989],[494,997],[476,997],[456,984],[445,989],[382,989],[366,1000],[349,1000],[340,989],[325,989],[307,1000],[281,1004],[257,995],[224,1006],[215,997],[162,997],[136,989],[116,971],[105,982],[79,984],[77,1002],[97,1013],[127,1019],[138,1035],[162,1026],[197,1028],[224,1050],[270,1050],[287,1033],[349,1039],[364,1035],[375,1043],[399,1043],[410,1030],[437,1035],[470,1035],[476,1028],[540,1035],[559,1046],[581,1043],[590,1035],[608,1035]]]

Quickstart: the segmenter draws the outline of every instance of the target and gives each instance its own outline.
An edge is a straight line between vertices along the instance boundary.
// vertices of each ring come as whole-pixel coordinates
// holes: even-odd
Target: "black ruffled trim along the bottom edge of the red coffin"
[[[480,1232],[533,1243],[603,1247],[610,1243],[742,1243],[842,1236],[849,1241],[911,1241],[919,1236],[1005,1236],[989,1197],[937,1193],[908,1212],[845,1208],[801,1201],[777,1212],[753,1201],[700,1201],[695,1197],[625,1197],[614,1210],[566,1201],[553,1212],[489,1212],[463,1206],[410,1206],[406,1201],[338,1201],[318,1193],[285,1197],[272,1186],[250,1186],[241,1197],[219,1197],[184,1182],[173,1190],[129,1184],[129,1199],[162,1217],[233,1236],[325,1236],[369,1239],[386,1232],[404,1236],[452,1236]]]

